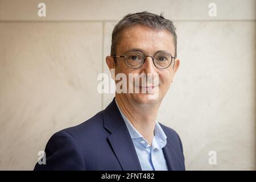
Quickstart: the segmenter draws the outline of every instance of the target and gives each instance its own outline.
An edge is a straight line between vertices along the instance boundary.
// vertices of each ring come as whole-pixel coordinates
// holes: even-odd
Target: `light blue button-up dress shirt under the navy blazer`
[[[115,103],[117,104],[116,100]],[[158,121],[155,123],[154,138],[150,146],[147,143],[147,140],[142,137],[133,125],[131,125],[130,121],[122,113],[118,104],[117,107],[125,121],[131,139],[133,140],[142,171],[167,171],[168,167],[162,150],[162,148],[166,146],[167,137]]]

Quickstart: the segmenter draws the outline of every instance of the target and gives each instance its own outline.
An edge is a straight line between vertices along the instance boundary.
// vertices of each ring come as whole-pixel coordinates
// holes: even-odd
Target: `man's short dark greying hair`
[[[169,31],[174,38],[175,57],[177,56],[177,35],[176,28],[171,20],[165,19],[163,13],[160,15],[143,11],[141,13],[127,14],[114,27],[112,32],[111,55],[114,56],[117,44],[121,40],[122,31],[125,28],[141,24],[143,26]]]

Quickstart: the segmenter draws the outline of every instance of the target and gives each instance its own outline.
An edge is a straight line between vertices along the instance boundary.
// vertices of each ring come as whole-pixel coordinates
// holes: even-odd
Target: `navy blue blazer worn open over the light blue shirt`
[[[169,170],[185,170],[177,133],[160,123],[167,136],[163,154]],[[135,170],[141,164],[115,100],[80,125],[61,130],[46,145],[46,164],[34,170]]]

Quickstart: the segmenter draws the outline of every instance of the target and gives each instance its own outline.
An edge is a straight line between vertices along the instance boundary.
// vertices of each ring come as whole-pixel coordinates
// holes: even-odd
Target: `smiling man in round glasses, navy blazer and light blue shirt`
[[[176,45],[175,27],[162,15],[143,11],[120,20],[106,64],[115,76],[132,74],[122,89],[134,86],[139,92],[116,90],[105,110],[54,134],[46,164],[36,164],[35,170],[185,170],[179,136],[156,121],[179,68]]]

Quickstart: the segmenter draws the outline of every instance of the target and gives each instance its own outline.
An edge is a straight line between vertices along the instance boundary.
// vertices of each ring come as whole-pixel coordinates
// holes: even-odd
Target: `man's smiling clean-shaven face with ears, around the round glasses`
[[[156,30],[150,27],[136,25],[129,28],[126,28],[122,32],[122,37],[120,42],[117,45],[116,53],[117,55],[126,55],[131,49],[138,49],[144,55],[147,56],[154,56],[156,52],[159,51],[166,51],[170,53],[172,56],[175,55],[175,46],[173,36],[167,30]],[[127,85],[132,84],[134,87],[136,84],[129,82],[129,73],[138,73],[140,74],[150,74],[152,76],[152,80],[156,79],[155,77],[158,74],[158,84],[154,85],[154,83],[149,84],[147,86],[153,85],[155,86],[153,90],[147,90],[148,92],[142,93],[143,86],[141,85],[142,81],[140,81],[139,93],[121,93],[123,97],[126,97],[128,100],[133,100],[137,102],[137,104],[156,104],[163,100],[163,97],[166,95],[168,89],[170,88],[171,82],[173,81],[175,72],[179,67],[179,60],[175,60],[175,67],[174,59],[170,67],[166,69],[158,69],[155,67],[152,58],[146,57],[144,64],[138,68],[133,69],[129,68],[125,63],[125,58],[118,57],[117,63],[114,64],[113,57],[108,56],[106,58],[106,62],[109,68],[115,69],[115,76],[118,73],[124,73],[127,77]],[[119,82],[115,81],[116,83]],[[137,85],[138,86],[138,85]],[[156,90],[158,91],[158,97],[156,99],[148,99],[149,94],[156,94]],[[150,93],[149,93],[150,92]]]

